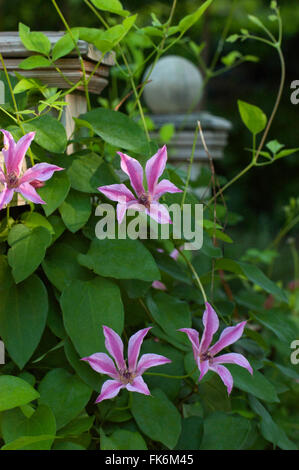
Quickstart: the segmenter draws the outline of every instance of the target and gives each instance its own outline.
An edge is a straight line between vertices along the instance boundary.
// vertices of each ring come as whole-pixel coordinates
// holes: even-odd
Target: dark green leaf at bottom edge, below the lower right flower
[[[204,421],[201,450],[241,450],[251,431],[248,419],[220,411],[210,414]]]

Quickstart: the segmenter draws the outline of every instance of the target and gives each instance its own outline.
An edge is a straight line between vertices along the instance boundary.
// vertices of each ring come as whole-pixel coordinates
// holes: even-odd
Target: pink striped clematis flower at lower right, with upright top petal
[[[220,376],[227,388],[228,394],[230,394],[234,384],[233,377],[222,364],[238,364],[241,367],[245,367],[250,374],[253,373],[252,367],[242,354],[229,353],[221,354],[220,356],[216,356],[216,354],[241,338],[246,321],[238,323],[236,326],[225,328],[219,340],[213,346],[211,346],[211,342],[214,333],[219,328],[219,320],[217,313],[208,302],[206,302],[206,310],[203,314],[202,322],[204,324],[204,332],[200,343],[199,333],[193,328],[181,328],[179,331],[186,333],[192,344],[194,359],[200,371],[199,380],[203,378],[208,370],[212,370]]]

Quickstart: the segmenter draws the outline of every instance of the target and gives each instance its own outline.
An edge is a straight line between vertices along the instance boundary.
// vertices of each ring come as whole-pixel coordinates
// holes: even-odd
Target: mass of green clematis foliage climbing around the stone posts
[[[138,97],[146,86],[142,83],[145,65],[155,63],[175,44],[179,51],[188,50],[201,63],[206,81],[242,62],[257,61],[246,49],[242,52],[242,43],[252,39],[249,29],[242,27],[240,34],[228,33],[226,39],[227,46],[241,39],[240,50],[224,50],[222,36],[216,69],[213,61],[210,68],[205,66],[202,52],[206,44],[186,37],[186,33],[191,31],[192,36],[192,31],[199,32],[198,23],[210,6],[209,21],[213,23],[219,5],[212,0],[200,3],[199,7],[191,5],[184,17],[179,17],[179,6],[170,19],[151,12],[149,22],[142,24],[144,16],[132,15],[118,0],[91,0],[103,27],[88,22],[85,25],[82,18],[84,27],[71,25],[52,46],[44,33],[19,24],[20,39],[30,53],[20,64],[26,76],[0,72],[5,86],[1,128],[11,131],[16,140],[24,133],[36,133],[27,151],[27,167],[47,162],[64,171],[54,173],[42,187],[37,184],[37,192],[46,204],[29,205],[27,201],[25,206],[11,205],[9,211],[1,212],[3,450],[298,447],[298,373],[290,364],[290,344],[299,334],[299,271],[294,241],[288,245],[294,258],[295,274],[290,278],[294,277],[294,282],[288,284],[272,275],[274,263],[284,261],[280,240],[298,222],[298,201],[292,198],[285,207],[285,225],[271,245],[246,246],[239,257],[233,255],[236,237],[232,228],[243,223],[242,217],[231,212],[231,199],[226,197],[231,181],[226,184],[218,175],[216,182],[225,190],[219,192],[215,205],[213,199],[205,201],[200,251],[184,251],[184,236],[181,240],[172,236],[169,240],[121,239],[119,227],[115,239],[97,238],[97,224],[104,217],[96,209],[108,200],[98,188],[122,183],[132,189],[124,172],[119,171],[117,151],[129,153],[144,167],[176,132],[172,123],[157,129],[145,115]],[[86,8],[88,5],[86,2]],[[275,2],[271,8],[269,20],[277,28]],[[261,34],[268,31],[265,25],[269,20],[249,17]],[[247,15],[244,22],[249,28]],[[269,37],[268,31],[268,42]],[[85,77],[85,72],[90,75],[97,69],[82,70],[81,80],[76,84],[66,81],[69,89],[65,90],[49,87],[28,75],[35,68],[53,70],[59,66],[57,61],[69,54],[75,57],[78,41],[98,48],[102,58],[106,53],[115,57],[111,86],[106,95],[98,98],[102,107],[96,104],[96,97],[90,99]],[[102,58],[94,64],[96,68],[103,67]],[[58,68],[57,73],[63,71]],[[68,110],[65,96],[78,93],[78,89],[84,92],[88,111],[72,116],[75,129],[67,136],[62,124]],[[253,147],[257,147],[256,136],[265,131],[267,117],[247,102],[239,100],[238,107],[243,123],[253,134]],[[157,133],[158,142],[151,140],[151,131]],[[256,148],[250,149],[252,166],[272,164],[298,151],[294,145],[286,148],[274,138],[267,142],[266,137],[258,161]],[[189,182],[185,170],[171,163],[168,160],[161,178],[182,189],[186,186],[185,202],[192,207],[202,202],[197,190],[211,184],[209,170],[197,181]],[[237,181],[238,177],[232,179]],[[181,198],[181,194],[171,194],[160,202],[181,204]],[[237,242],[239,245],[239,239]],[[181,251],[177,259],[174,248]],[[155,289],[154,281],[161,281],[165,291]],[[213,342],[224,328],[247,321],[242,338],[223,354],[243,354],[253,375],[236,364],[225,364],[234,382],[230,395],[213,370],[199,381],[196,351],[186,335],[178,331],[193,328],[201,339],[206,300],[203,290],[209,302],[213,299],[220,320]],[[122,337],[125,351],[133,334],[151,327],[140,354],[158,354],[171,361],[144,372],[151,395],[121,390],[118,396],[95,404],[107,376],[82,359],[107,353],[103,325]]]

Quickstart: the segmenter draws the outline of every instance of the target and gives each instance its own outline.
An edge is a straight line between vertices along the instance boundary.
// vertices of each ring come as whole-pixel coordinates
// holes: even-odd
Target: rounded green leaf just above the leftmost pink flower
[[[65,128],[57,119],[46,114],[34,121],[23,124],[25,132],[35,131],[34,141],[42,148],[53,153],[63,153],[66,149],[67,137]]]

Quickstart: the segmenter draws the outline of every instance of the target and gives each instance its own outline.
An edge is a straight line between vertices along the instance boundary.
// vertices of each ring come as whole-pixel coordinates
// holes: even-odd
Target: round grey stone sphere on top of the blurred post
[[[150,67],[145,71],[145,80]],[[145,85],[143,97],[154,114],[184,114],[197,106],[202,95],[203,78],[198,68],[176,55],[158,60]]]

